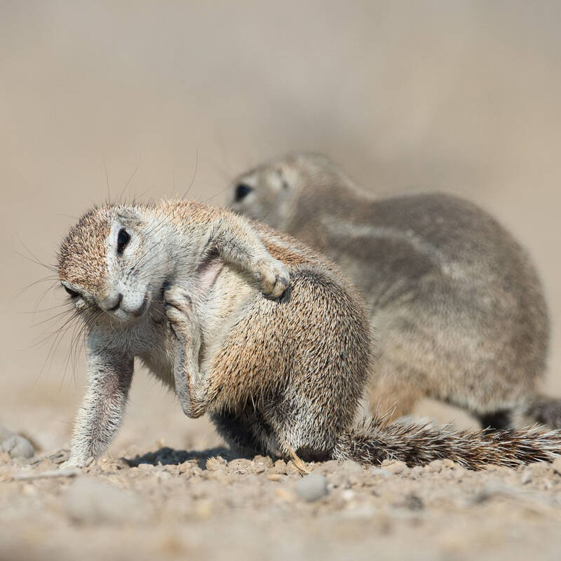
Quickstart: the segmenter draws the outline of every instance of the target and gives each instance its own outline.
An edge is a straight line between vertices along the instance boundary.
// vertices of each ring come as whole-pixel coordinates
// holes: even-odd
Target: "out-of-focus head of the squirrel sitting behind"
[[[297,152],[236,177],[230,185],[228,205],[238,214],[285,230],[302,197],[326,196],[347,181],[327,156]]]

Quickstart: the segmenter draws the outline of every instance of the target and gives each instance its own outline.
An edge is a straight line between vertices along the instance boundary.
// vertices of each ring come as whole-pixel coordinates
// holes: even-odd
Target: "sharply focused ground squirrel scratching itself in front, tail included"
[[[106,205],[62,242],[60,281],[85,323],[89,388],[70,463],[100,456],[126,405],[133,359],[210,414],[239,450],[302,460],[450,458],[469,468],[551,461],[561,433],[454,432],[354,421],[369,323],[349,280],[285,234],[194,202]]]

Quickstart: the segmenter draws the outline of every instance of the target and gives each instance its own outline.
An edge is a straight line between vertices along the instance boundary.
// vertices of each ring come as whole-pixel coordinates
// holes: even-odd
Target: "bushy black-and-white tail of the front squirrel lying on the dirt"
[[[338,460],[381,464],[385,459],[423,466],[436,459],[451,459],[464,468],[489,464],[518,467],[532,461],[552,462],[561,455],[561,431],[538,427],[507,431],[455,431],[450,425],[388,423],[374,417],[342,435],[334,448]]]

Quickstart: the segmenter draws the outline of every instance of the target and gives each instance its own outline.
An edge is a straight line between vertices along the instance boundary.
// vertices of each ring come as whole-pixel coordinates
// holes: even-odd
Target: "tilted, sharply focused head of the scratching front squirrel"
[[[76,311],[103,311],[131,323],[161,294],[167,259],[156,230],[163,225],[148,221],[143,210],[94,208],[62,241],[58,274]]]

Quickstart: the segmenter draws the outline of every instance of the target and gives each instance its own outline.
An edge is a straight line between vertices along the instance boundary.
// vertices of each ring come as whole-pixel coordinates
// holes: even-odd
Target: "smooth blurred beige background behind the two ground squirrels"
[[[449,191],[498,217],[543,278],[560,394],[560,20],[555,1],[1,0],[0,423],[69,440],[83,358],[46,321],[65,297],[32,284],[50,275],[33,260],[54,264],[88,206],[191,181],[221,204],[293,149],[378,194]],[[140,372],[113,450],[158,438],[216,437]]]

